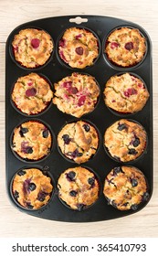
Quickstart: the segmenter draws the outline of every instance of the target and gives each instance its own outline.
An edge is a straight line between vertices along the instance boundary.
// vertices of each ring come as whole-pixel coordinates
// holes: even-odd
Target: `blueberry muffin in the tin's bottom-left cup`
[[[37,168],[22,169],[13,179],[13,197],[26,209],[45,206],[51,197],[52,190],[51,178]]]

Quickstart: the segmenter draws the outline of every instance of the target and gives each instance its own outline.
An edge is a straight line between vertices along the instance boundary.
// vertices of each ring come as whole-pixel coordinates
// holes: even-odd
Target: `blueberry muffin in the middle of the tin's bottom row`
[[[58,178],[58,197],[70,208],[90,207],[99,197],[99,182],[87,168],[68,168]]]

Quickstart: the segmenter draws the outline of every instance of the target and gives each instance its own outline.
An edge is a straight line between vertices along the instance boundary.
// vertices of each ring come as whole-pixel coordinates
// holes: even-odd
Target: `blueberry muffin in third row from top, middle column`
[[[98,146],[97,130],[85,121],[68,123],[58,133],[58,147],[61,153],[77,164],[90,160]]]

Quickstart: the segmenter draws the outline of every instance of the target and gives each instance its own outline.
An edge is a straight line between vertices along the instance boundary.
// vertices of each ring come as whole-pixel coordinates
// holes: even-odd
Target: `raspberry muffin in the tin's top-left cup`
[[[26,28],[16,34],[12,47],[18,63],[26,68],[38,68],[50,58],[54,45],[46,31]]]

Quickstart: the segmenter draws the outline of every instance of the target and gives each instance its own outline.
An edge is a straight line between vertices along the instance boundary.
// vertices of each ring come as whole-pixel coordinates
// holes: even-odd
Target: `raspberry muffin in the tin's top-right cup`
[[[107,38],[105,53],[108,59],[120,67],[132,67],[139,63],[146,52],[146,39],[136,28],[121,27]]]

